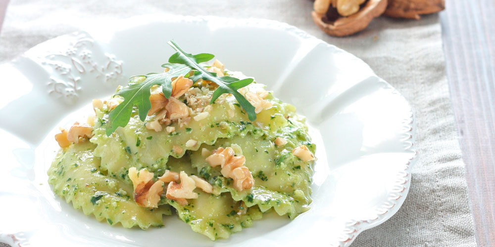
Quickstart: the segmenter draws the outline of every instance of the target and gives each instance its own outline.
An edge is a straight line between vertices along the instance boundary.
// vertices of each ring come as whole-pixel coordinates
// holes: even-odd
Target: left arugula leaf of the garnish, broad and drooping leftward
[[[131,83],[117,91],[116,95],[124,97],[124,101],[110,111],[106,126],[107,135],[111,135],[117,127],[124,127],[129,123],[134,106],[138,107],[141,121],[146,120],[148,111],[151,109],[149,95],[152,85],[161,85],[165,97],[170,98],[172,78],[185,76],[191,71],[190,67],[183,64],[166,63],[161,67],[168,68],[169,71],[131,77]]]

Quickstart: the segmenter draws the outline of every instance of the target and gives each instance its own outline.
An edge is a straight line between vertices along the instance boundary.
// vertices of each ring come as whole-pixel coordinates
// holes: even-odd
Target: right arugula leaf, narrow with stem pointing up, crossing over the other
[[[236,97],[239,104],[247,112],[247,117],[249,120],[256,120],[254,106],[252,106],[251,103],[249,103],[249,101],[247,101],[247,99],[237,91],[239,88],[247,86],[253,81],[253,79],[247,78],[244,80],[239,80],[229,76],[216,77],[216,73],[209,72],[198,64],[211,60],[214,55],[208,53],[193,55],[182,50],[177,43],[175,43],[175,41],[168,41],[168,44],[177,51],[168,59],[169,63],[185,64],[191,67],[191,69],[194,69],[194,75],[190,77],[193,82],[197,82],[199,79],[202,79],[214,82],[218,85],[218,88],[213,92],[210,104],[214,103],[220,95],[224,93],[232,93],[234,97]]]

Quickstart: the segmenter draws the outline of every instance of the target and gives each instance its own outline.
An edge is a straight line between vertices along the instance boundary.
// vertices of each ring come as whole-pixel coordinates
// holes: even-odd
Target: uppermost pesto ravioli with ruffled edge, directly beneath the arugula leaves
[[[197,150],[201,143],[214,144],[217,138],[244,136],[248,132],[259,131],[252,124],[246,125],[249,120],[244,114],[229,118],[225,114],[225,109],[230,109],[229,104],[232,102],[212,104],[209,116],[201,121],[192,120],[183,127],[174,123],[170,125],[175,128],[171,133],[147,129],[137,114],[132,116],[129,124],[117,128],[110,136],[105,134],[105,125],[95,128],[91,142],[98,145],[95,155],[101,158],[101,169],[118,177],[126,177],[127,170],[132,166],[163,173],[168,157],[180,158],[187,150]],[[234,107],[241,111],[238,106]],[[100,119],[105,118],[107,114],[102,114]],[[190,139],[198,141],[198,145],[186,147]],[[179,146],[182,152],[175,153],[174,145]]]

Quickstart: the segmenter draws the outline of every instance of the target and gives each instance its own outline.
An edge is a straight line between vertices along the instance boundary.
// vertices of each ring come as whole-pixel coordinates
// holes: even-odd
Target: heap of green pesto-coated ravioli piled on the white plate
[[[223,73],[220,68],[215,72]],[[245,78],[239,73],[229,74]],[[158,123],[160,113],[149,114],[142,122],[134,108],[129,123],[107,136],[112,108],[97,107],[93,135],[76,135],[80,141],[64,147],[49,168],[54,193],[110,225],[120,222],[124,227],[142,229],[162,226],[163,215],[173,210],[193,231],[211,240],[229,238],[271,209],[291,219],[307,211],[312,202],[315,145],[304,118],[296,114],[294,106],[253,82],[239,89],[255,106],[256,120],[251,122],[232,94],[223,94],[210,104],[215,88],[209,82],[186,88],[175,100],[188,107],[189,116],[160,122],[163,126],[158,130],[147,124]],[[277,145],[277,139],[283,141]],[[234,187],[236,176],[223,176],[221,166],[212,167],[207,162],[208,155],[220,147],[232,148],[236,156],[245,158],[242,166],[252,176],[249,187]],[[301,147],[313,159],[297,156],[294,151]],[[131,180],[132,167],[136,170]],[[140,172],[144,174],[141,177]],[[165,173],[176,177],[167,180],[162,177]],[[184,192],[187,198],[169,196],[170,190],[183,189],[182,174],[193,180],[192,191]],[[201,183],[210,190],[199,186]],[[184,188],[187,185],[184,183]],[[159,193],[154,203],[139,203],[151,187]]]

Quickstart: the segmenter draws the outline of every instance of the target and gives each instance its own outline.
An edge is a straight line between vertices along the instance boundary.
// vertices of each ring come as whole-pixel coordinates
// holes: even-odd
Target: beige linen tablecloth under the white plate
[[[381,17],[358,35],[332,38],[314,25],[311,9],[311,0],[11,0],[0,33],[0,62],[88,22],[146,13],[287,22],[363,59],[415,110],[419,159],[409,195],[395,216],[364,231],[352,246],[475,246],[438,15],[419,21]]]

